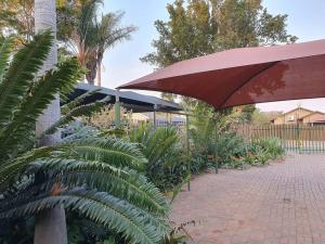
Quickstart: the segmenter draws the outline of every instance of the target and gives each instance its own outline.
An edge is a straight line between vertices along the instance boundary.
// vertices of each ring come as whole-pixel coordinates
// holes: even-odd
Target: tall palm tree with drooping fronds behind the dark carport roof
[[[119,27],[123,13],[108,13],[98,20],[98,5],[102,1],[82,2],[76,16],[76,24],[70,35],[70,47],[82,67],[89,72],[86,78],[94,85],[96,78],[101,86],[101,67],[104,52],[118,42],[128,40],[135,30],[134,26]]]

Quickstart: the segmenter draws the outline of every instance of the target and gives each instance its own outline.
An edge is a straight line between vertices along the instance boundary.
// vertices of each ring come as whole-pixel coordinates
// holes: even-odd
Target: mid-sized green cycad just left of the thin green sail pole
[[[148,159],[146,176],[160,190],[173,190],[187,178],[186,158],[174,128],[141,126],[130,132],[130,140],[141,144]]]

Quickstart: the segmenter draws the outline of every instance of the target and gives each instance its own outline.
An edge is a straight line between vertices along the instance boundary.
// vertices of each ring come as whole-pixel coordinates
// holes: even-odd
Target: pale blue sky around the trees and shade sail
[[[103,12],[125,12],[121,24],[134,25],[138,30],[131,40],[118,43],[105,52],[103,87],[116,88],[154,70],[153,66],[139,59],[153,51],[151,43],[158,37],[154,23],[156,20],[168,20],[166,5],[172,2],[173,0],[104,0]],[[297,36],[298,42],[325,39],[324,0],[263,0],[262,4],[272,14],[288,15],[288,34]],[[159,95],[148,91],[141,93]],[[262,111],[287,112],[298,105],[325,112],[325,99],[263,103],[258,104],[258,107]]]

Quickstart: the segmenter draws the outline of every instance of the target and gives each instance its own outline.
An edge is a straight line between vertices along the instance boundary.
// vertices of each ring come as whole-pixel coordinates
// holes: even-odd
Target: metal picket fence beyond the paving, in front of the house
[[[324,125],[243,125],[237,132],[247,140],[278,138],[281,145],[289,152],[325,153]]]

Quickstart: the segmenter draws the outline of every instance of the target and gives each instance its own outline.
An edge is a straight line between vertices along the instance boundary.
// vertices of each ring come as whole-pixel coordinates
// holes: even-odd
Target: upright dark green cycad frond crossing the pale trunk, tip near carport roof
[[[58,92],[74,89],[80,79],[80,68],[76,59],[58,65],[58,68],[48,72],[26,97],[12,121],[0,133],[0,153],[2,157],[11,155],[16,147],[24,144],[26,132],[34,130],[34,124],[44,108],[55,99]]]

